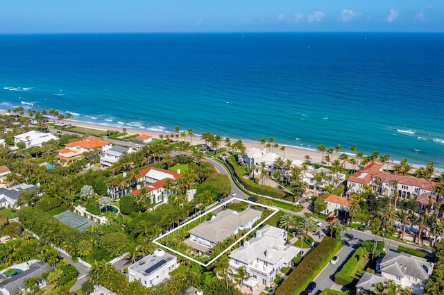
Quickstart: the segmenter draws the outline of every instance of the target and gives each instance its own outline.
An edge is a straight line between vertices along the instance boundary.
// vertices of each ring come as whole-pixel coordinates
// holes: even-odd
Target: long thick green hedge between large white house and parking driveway
[[[276,289],[276,295],[299,295],[316,278],[333,256],[341,249],[341,242],[332,237],[324,237],[316,248],[294,269],[289,278]]]

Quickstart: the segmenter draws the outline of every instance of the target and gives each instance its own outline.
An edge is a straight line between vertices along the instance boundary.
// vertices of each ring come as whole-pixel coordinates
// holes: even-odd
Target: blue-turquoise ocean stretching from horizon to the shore
[[[0,109],[444,168],[444,34],[0,35]]]

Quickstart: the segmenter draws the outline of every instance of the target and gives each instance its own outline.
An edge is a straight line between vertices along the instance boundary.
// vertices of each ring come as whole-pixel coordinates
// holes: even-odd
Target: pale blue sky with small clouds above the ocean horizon
[[[0,33],[444,31],[444,0],[1,0]]]

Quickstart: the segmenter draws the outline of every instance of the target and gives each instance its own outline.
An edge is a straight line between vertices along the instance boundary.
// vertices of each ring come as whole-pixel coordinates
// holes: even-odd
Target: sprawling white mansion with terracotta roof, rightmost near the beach
[[[433,194],[435,183],[414,176],[390,174],[382,170],[381,163],[371,163],[352,174],[347,180],[347,192],[364,192],[370,186],[373,192],[382,196],[398,194],[400,199],[416,199],[420,194]]]

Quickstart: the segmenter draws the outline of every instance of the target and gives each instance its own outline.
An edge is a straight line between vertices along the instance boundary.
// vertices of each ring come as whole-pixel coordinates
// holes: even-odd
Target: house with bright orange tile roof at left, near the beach
[[[84,140],[77,140],[65,144],[65,149],[60,149],[58,159],[65,159],[67,162],[74,162],[80,155],[89,151],[97,151],[100,154],[112,148],[110,140],[102,140],[101,138],[87,137]]]

